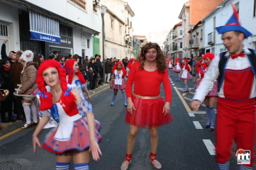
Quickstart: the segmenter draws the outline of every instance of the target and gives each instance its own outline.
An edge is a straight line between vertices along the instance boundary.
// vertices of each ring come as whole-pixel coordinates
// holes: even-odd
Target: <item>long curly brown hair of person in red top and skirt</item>
[[[141,63],[141,66],[139,66],[139,69],[144,69],[144,62],[145,62],[145,55],[148,52],[149,49],[154,48],[157,51],[157,68],[158,68],[158,73],[164,73],[164,69],[166,68],[166,63],[165,63],[165,57],[163,56],[163,52],[160,48],[160,46],[157,43],[153,42],[148,42],[145,45],[142,46],[141,51],[139,52],[139,56],[137,58],[137,61]]]

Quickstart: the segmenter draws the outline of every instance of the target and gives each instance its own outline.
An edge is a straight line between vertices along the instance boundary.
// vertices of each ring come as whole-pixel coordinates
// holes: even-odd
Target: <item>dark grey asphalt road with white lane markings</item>
[[[204,128],[205,107],[201,106],[197,112],[189,110],[187,105],[194,89],[183,94],[183,82],[170,81],[173,92],[171,112],[174,121],[159,128],[157,159],[162,164],[162,170],[215,170],[215,131]],[[191,81],[189,84],[190,88],[194,86]],[[95,118],[102,123],[100,134],[103,137],[99,144],[103,156],[99,162],[91,159],[91,170],[119,170],[125,159],[126,136],[129,131],[129,125],[124,123],[126,107],[120,91],[114,106],[110,106],[112,94],[112,89],[106,89],[93,95],[91,101]],[[160,95],[164,98],[163,86]],[[10,164],[17,170],[55,170],[54,154],[41,148],[38,148],[36,154],[33,153],[31,139],[34,128],[23,129],[0,140],[0,170],[6,170],[4,165]],[[49,129],[44,129],[41,132],[40,141],[43,142],[48,131]],[[149,140],[148,129],[140,129],[129,170],[154,170],[149,161]],[[237,169],[234,152],[235,148],[230,170]],[[74,169],[73,164],[70,169]]]

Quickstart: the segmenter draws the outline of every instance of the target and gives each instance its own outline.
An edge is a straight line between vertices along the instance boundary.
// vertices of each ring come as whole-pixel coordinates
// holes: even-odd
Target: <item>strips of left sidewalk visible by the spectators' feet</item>
[[[94,89],[94,90],[89,90],[90,95],[93,95],[96,92],[99,92],[105,88],[108,88],[109,84],[103,84],[102,86],[99,86],[98,88]],[[16,128],[20,128],[22,127],[22,125],[24,125],[25,122],[22,122],[21,120],[17,120],[16,122],[9,122],[9,123],[2,123],[0,122],[0,136],[6,132],[6,131],[10,131],[10,130],[15,130]],[[3,128],[1,128],[1,126]]]

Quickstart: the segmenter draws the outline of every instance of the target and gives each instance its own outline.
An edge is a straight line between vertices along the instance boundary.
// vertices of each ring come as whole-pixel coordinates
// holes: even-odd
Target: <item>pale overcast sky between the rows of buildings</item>
[[[135,13],[133,35],[145,35],[160,46],[168,31],[179,23],[179,14],[188,0],[124,0]]]

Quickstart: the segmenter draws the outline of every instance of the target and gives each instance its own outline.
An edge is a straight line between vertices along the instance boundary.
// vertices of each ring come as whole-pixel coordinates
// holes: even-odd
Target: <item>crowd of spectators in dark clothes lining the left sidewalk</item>
[[[18,84],[21,83],[22,70],[26,69],[26,65],[29,66],[29,63],[22,64],[23,60],[20,60],[23,51],[10,51],[9,55],[6,54],[6,42],[7,39],[3,40],[1,47],[1,57],[0,60],[0,89],[8,89],[9,96],[5,101],[1,103],[0,113],[1,113],[1,122],[15,122],[16,120],[26,120],[26,114],[24,112],[24,107],[22,101],[23,96],[13,95],[15,89],[18,89]],[[76,59],[79,65],[80,72],[87,81],[87,89],[92,90],[96,89],[99,86],[103,85],[103,62],[101,62],[101,56],[96,54],[94,57],[86,56],[83,59],[81,56],[74,54],[69,54],[68,56],[63,56],[58,53],[58,51],[53,51],[47,58],[47,60],[57,60],[62,66],[65,66],[65,62],[69,59]],[[34,54],[33,61],[31,63],[37,63],[40,66],[40,63],[46,60],[42,54]],[[111,72],[113,66],[119,62],[116,57],[107,58],[105,60],[105,82],[110,83]],[[128,58],[122,60],[123,66],[126,67],[128,64]],[[35,67],[34,69],[36,69]],[[25,94],[25,93],[23,93]],[[33,115],[34,116],[34,115]],[[33,118],[33,120],[37,120]],[[26,121],[29,124],[29,121]],[[33,122],[31,122],[33,123]],[[26,124],[25,124],[26,125]]]

